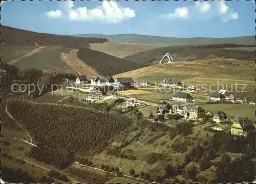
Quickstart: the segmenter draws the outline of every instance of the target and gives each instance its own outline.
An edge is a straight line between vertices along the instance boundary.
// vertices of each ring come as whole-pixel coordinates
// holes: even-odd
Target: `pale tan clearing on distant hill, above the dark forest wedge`
[[[151,50],[151,49],[159,48],[163,46],[166,46],[166,45],[116,43],[116,42],[90,44],[91,49],[101,51],[106,54],[116,56],[118,58],[124,58],[126,56],[136,54],[138,52],[143,52],[146,50]]]

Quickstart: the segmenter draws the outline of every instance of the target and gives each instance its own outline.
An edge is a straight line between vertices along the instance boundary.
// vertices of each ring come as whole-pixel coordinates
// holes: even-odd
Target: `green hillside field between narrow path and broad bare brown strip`
[[[20,70],[36,68],[47,72],[71,73],[74,70],[61,59],[61,52],[69,53],[70,51],[69,48],[46,47],[27,58],[17,61],[14,66]]]

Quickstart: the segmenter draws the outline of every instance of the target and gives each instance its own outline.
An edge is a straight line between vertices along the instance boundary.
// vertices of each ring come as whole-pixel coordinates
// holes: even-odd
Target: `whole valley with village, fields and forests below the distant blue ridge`
[[[13,29],[24,35],[11,38],[6,30],[1,45],[6,176],[55,183],[253,180],[255,63],[250,42],[239,38],[203,45],[199,39],[202,45],[170,46],[162,38],[149,40],[152,44],[118,43]],[[174,62],[158,64],[166,52]],[[171,86],[178,82],[182,90]],[[30,84],[42,90],[27,95]],[[14,92],[13,85],[26,89]],[[221,89],[230,90],[234,102],[225,96],[225,101],[207,98],[209,90]],[[183,93],[194,101],[175,100]],[[194,118],[193,107],[202,108],[203,116],[197,112]],[[220,111],[226,119],[216,123]],[[240,114],[253,127],[237,133],[233,129]]]

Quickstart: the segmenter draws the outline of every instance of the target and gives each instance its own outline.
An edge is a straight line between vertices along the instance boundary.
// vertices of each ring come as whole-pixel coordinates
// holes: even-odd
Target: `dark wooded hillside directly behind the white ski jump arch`
[[[165,46],[140,52],[124,57],[126,60],[138,64],[151,65],[159,62],[169,52],[174,61],[194,61],[203,59],[232,58],[238,60],[254,60],[254,51],[226,50],[226,47],[252,47],[252,45],[221,44],[221,45],[197,45],[197,46]]]

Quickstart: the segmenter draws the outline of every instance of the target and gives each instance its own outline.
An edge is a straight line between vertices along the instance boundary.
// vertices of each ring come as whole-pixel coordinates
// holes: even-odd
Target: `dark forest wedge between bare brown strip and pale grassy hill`
[[[140,66],[134,61],[114,57],[89,48],[79,49],[77,57],[86,64],[95,68],[101,75],[114,75],[138,69]]]

